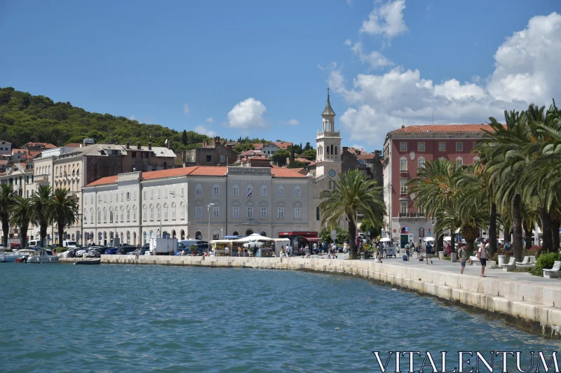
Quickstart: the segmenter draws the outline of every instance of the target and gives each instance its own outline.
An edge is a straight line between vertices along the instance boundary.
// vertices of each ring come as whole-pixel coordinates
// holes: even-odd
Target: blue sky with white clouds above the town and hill
[[[561,100],[561,2],[0,0],[0,87],[178,131],[343,146]],[[434,118],[434,120],[433,120]]]

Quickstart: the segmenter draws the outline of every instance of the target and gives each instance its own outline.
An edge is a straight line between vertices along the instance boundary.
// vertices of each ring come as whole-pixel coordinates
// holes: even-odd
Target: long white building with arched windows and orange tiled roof
[[[270,167],[185,167],[108,176],[82,188],[84,242],[306,231],[310,179]]]

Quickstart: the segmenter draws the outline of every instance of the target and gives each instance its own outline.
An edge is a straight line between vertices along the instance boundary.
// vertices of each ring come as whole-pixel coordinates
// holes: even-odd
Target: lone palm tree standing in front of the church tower
[[[333,181],[333,190],[320,193],[321,224],[330,228],[339,220],[349,220],[349,258],[354,258],[356,248],[356,214],[363,214],[365,221],[374,227],[381,227],[386,206],[382,188],[376,181],[369,180],[358,170],[339,174],[339,181]]]

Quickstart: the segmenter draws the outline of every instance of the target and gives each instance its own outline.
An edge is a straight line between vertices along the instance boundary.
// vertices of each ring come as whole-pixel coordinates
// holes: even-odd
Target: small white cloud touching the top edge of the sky
[[[407,25],[403,20],[405,0],[388,1],[381,6],[374,5],[374,9],[368,15],[368,20],[363,21],[360,32],[372,36],[382,35],[388,40],[407,31]]]

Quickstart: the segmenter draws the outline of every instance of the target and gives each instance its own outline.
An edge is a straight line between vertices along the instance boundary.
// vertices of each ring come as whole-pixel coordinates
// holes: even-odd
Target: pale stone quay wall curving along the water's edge
[[[62,259],[74,262],[81,259]],[[384,260],[340,260],[321,258],[239,258],[102,255],[102,263],[146,265],[190,265],[199,267],[248,267],[260,269],[304,269],[316,272],[351,274],[365,279],[383,281],[392,286],[415,290],[443,300],[459,302],[494,314],[511,316],[516,323],[533,324],[552,337],[561,335],[561,281],[543,281],[529,274],[507,275],[507,272],[487,269],[489,277],[452,272],[450,262],[438,261],[434,266],[421,262]],[[445,263],[446,262],[446,263]],[[438,265],[440,264],[440,265]],[[466,269],[466,272],[467,271]],[[523,275],[523,276],[521,276]],[[527,276],[527,279],[524,278]]]

